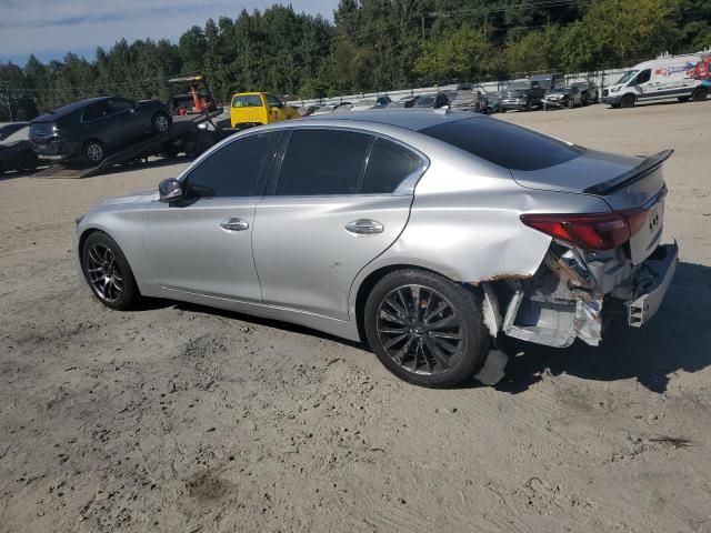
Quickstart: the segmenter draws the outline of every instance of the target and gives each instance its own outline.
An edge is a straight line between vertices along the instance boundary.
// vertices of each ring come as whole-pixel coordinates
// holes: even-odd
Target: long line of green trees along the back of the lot
[[[711,46],[708,0],[340,0],[330,21],[274,4],[208,20],[178,40],[124,39],[87,59],[0,64],[0,121],[101,94],[168,98],[201,71],[221,102],[388,91],[530,72],[594,71]],[[8,98],[9,97],[9,98]]]

